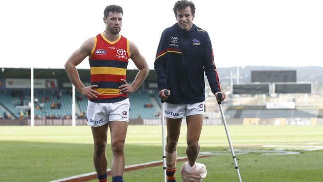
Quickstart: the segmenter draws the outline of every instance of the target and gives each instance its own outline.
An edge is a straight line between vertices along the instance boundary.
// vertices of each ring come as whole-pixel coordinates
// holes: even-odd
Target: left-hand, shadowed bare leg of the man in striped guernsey
[[[105,147],[107,141],[108,124],[99,127],[91,127],[94,139],[93,163],[98,175],[103,175],[107,171],[107,160]]]

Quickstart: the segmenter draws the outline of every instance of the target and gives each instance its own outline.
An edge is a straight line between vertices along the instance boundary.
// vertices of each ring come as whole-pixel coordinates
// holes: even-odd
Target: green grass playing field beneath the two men
[[[295,145],[322,146],[323,126],[238,126],[229,125],[237,150],[243,182],[322,182],[323,150],[304,151]],[[178,156],[185,156],[186,126],[182,126]],[[94,171],[92,135],[88,126],[0,126],[0,182],[48,182]],[[204,126],[201,152],[228,151],[224,127]],[[263,145],[300,151],[298,155],[239,154],[239,149],[264,149]],[[107,147],[109,149],[110,146]],[[270,148],[265,148],[269,150]],[[162,156],[161,126],[129,126],[126,165],[159,161]],[[108,163],[111,151],[107,151]],[[237,182],[231,155],[199,159],[207,167],[203,182]],[[181,182],[177,164],[177,182]],[[145,180],[143,180],[145,179]],[[162,167],[126,172],[125,182],[162,182]],[[111,182],[111,179],[109,179]],[[93,180],[91,182],[96,182]]]

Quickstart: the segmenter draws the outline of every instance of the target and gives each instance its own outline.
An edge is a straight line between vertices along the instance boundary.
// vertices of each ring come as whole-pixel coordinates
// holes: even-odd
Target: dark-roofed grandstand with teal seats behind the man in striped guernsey
[[[127,70],[128,83],[135,79],[137,73],[138,70]],[[79,75],[83,84],[89,86],[89,70],[79,70]],[[30,69],[6,68],[0,73],[0,118],[9,120],[0,123],[30,123],[30,77]],[[72,84],[64,69],[34,69],[36,124],[63,124],[63,120],[66,120],[65,124],[71,123],[72,92]],[[151,71],[138,91],[129,94],[130,119],[139,122],[143,119],[159,119],[161,104],[157,94],[155,72]],[[86,108],[87,98],[76,91],[76,119],[79,124],[86,123]],[[55,122],[48,122],[53,120]]]

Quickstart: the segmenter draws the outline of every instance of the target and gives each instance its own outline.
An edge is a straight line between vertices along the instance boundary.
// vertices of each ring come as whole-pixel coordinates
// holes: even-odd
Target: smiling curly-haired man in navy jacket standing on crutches
[[[187,123],[188,157],[188,162],[184,164],[189,165],[191,169],[204,169],[201,168],[204,165],[196,163],[205,103],[204,72],[216,98],[220,101],[225,98],[214,65],[209,35],[192,23],[195,14],[194,3],[179,0],[174,4],[173,11],[177,23],[162,32],[155,60],[159,96],[165,100],[168,182],[175,182],[176,145],[184,116]],[[164,95],[164,91],[168,91],[168,96]],[[218,93],[224,95],[222,99],[217,97]],[[206,171],[200,176],[201,179],[205,178]]]

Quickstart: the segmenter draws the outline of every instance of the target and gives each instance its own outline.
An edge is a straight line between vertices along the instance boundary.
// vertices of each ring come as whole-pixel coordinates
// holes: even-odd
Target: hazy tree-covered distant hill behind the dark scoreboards
[[[237,67],[217,68],[220,83],[224,86],[230,86],[230,72],[233,73],[233,83],[237,83]],[[240,67],[240,84],[251,82],[251,71],[259,70],[296,70],[297,82],[312,83],[312,93],[323,94],[323,67],[268,67],[268,66],[246,66]],[[221,84],[222,85],[222,84]]]

